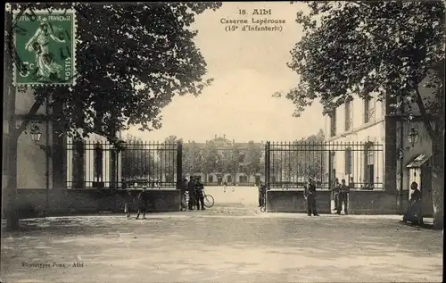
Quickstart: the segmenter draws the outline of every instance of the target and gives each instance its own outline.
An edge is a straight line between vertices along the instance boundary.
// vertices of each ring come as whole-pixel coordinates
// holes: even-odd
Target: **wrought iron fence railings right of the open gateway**
[[[308,179],[328,189],[345,179],[351,189],[382,189],[384,146],[376,143],[271,143],[265,146],[269,188],[303,189]]]

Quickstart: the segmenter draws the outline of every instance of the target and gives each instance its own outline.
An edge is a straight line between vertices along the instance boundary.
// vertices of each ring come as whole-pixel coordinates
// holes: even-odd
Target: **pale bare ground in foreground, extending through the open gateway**
[[[205,212],[21,221],[2,233],[2,282],[442,281],[441,231],[400,216],[262,213],[255,187],[207,192]]]

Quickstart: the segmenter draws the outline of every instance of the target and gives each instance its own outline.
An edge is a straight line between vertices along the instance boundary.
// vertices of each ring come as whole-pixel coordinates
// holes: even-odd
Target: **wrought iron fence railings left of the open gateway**
[[[67,187],[178,188],[182,145],[132,142],[120,149],[105,141],[67,144]]]

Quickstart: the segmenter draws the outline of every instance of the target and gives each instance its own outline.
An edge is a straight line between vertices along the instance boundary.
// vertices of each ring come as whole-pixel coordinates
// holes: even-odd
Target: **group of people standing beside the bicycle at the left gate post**
[[[205,210],[204,208],[204,185],[202,184],[201,176],[191,176],[190,179],[183,179],[181,186],[181,205],[186,205],[186,193],[189,195],[188,210]],[[186,207],[185,207],[186,208]]]

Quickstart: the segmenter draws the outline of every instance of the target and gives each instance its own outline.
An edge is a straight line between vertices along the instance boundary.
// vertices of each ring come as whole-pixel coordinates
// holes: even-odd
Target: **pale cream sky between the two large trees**
[[[270,9],[270,15],[239,15],[239,9]],[[296,87],[298,75],[286,66],[290,51],[301,38],[296,12],[305,4],[289,2],[227,2],[217,11],[195,18],[195,44],[213,78],[201,96],[176,96],[162,112],[162,128],[128,134],[145,140],[164,140],[171,135],[185,141],[204,142],[218,135],[237,142],[292,141],[324,128],[322,106],[315,102],[300,118],[293,118],[293,104],[275,98],[276,91]],[[225,31],[225,19],[285,20],[282,31]],[[269,24],[269,26],[274,26]],[[124,133],[125,135],[125,133]]]

